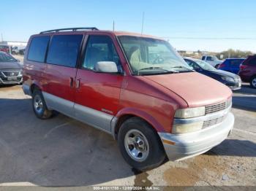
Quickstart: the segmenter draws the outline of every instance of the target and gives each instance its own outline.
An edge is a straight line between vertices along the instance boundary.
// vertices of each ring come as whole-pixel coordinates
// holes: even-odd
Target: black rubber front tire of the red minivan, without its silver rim
[[[140,133],[143,133],[141,136],[146,138],[148,144],[148,155],[146,155],[147,157],[145,160],[135,160],[130,156],[131,154],[129,154],[129,151],[126,149],[125,137],[132,130],[140,131]],[[165,149],[162,146],[162,141],[160,140],[157,132],[151,127],[151,125],[144,120],[141,120],[139,117],[129,118],[121,125],[121,128],[118,131],[118,146],[124,160],[139,171],[156,168],[161,165],[166,158]]]

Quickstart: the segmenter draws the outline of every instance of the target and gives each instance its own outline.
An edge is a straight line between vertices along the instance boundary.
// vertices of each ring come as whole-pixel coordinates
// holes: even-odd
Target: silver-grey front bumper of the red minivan
[[[224,141],[233,129],[234,121],[233,114],[229,112],[218,125],[193,133],[159,133],[159,136],[169,160],[183,160],[200,155]]]

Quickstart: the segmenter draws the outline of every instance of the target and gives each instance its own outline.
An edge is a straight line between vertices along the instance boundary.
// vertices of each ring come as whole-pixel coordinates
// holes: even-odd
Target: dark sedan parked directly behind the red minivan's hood
[[[194,58],[184,58],[187,64],[195,69],[195,71],[199,72],[200,74],[204,74],[208,77],[218,80],[223,84],[230,87],[231,90],[239,90],[241,89],[241,78],[228,71],[222,71],[219,69],[215,69],[209,63],[205,61],[197,60]]]

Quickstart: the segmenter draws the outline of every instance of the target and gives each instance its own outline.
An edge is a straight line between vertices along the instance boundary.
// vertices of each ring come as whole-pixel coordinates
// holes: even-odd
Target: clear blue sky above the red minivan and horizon
[[[176,50],[256,52],[255,0],[1,0],[5,41],[55,28],[95,26],[167,39]],[[1,36],[0,36],[1,41]]]

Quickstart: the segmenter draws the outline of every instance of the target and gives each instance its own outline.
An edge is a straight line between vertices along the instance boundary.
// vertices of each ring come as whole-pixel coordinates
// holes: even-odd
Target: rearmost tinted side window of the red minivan
[[[44,62],[50,36],[37,36],[31,41],[29,47],[29,61]]]

